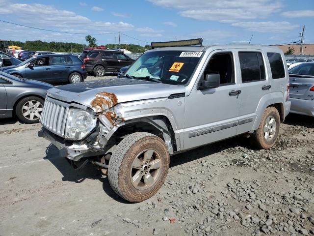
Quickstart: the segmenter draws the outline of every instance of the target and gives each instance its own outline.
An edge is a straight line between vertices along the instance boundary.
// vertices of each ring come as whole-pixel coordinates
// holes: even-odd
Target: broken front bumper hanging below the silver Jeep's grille
[[[59,149],[59,155],[61,157],[66,157],[72,161],[79,161],[83,157],[105,154],[102,149],[93,148],[88,144],[65,141],[45,128],[38,131],[38,137],[45,138],[50,141],[56,148]]]

